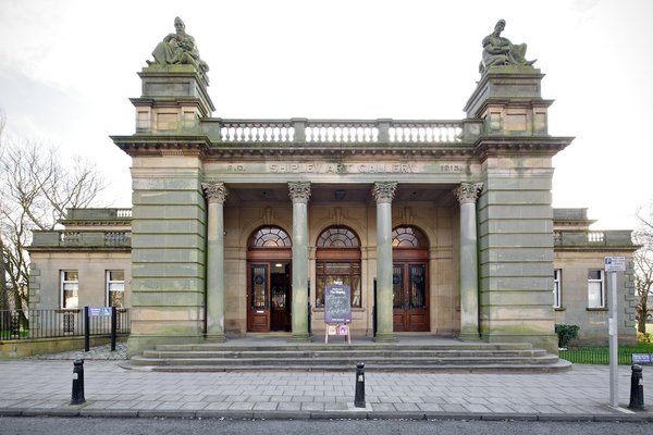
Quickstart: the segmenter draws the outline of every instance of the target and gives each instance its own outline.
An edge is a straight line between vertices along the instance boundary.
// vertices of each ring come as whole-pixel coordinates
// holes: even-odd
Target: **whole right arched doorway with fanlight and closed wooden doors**
[[[428,332],[429,241],[415,226],[398,226],[392,232],[393,330]]]

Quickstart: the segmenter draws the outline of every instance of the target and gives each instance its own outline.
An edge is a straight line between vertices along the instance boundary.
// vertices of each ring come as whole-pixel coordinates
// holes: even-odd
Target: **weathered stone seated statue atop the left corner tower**
[[[209,71],[209,65],[199,58],[195,38],[186,33],[186,26],[178,16],[174,18],[174,34],[169,34],[157,45],[152,55],[155,61],[147,61],[148,65],[190,64],[200,72]]]

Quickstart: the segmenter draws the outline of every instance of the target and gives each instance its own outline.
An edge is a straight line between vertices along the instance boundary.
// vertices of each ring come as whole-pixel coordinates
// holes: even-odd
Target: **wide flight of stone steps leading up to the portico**
[[[125,368],[168,372],[349,371],[554,372],[571,364],[529,344],[269,344],[159,345]]]

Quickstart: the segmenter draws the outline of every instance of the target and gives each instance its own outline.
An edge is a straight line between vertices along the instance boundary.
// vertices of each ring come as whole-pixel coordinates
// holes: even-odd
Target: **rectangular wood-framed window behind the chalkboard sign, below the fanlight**
[[[316,307],[324,307],[324,287],[347,285],[352,289],[352,307],[361,306],[360,261],[318,261],[316,263]]]

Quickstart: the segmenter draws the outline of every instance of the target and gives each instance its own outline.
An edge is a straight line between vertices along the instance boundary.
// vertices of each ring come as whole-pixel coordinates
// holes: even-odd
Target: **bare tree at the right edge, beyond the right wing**
[[[637,297],[637,331],[646,332],[646,320],[653,313],[653,202],[637,212],[640,227],[634,239],[641,247],[634,252],[634,293]]]

